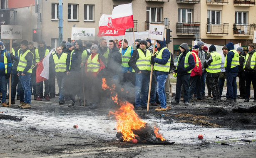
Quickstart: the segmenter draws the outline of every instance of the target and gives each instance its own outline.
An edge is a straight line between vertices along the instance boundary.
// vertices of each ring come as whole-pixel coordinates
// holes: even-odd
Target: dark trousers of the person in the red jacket
[[[189,86],[189,99],[192,99],[193,93],[196,89],[196,96],[198,99],[201,98],[201,76],[192,76],[190,77],[190,86]]]

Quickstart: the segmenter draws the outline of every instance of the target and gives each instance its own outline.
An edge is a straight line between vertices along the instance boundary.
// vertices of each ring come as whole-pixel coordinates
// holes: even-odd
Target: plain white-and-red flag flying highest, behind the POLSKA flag
[[[112,11],[112,25],[116,30],[133,28],[132,3],[118,5]]]

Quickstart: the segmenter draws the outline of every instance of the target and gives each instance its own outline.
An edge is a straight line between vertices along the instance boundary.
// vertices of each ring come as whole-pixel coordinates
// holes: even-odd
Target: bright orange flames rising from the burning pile
[[[118,100],[117,93],[114,92],[115,88],[116,86],[114,84],[112,87],[107,86],[106,79],[102,79],[102,89],[109,89],[113,95],[111,97],[114,103],[121,106],[118,111],[109,112],[109,114],[114,115],[115,119],[117,120],[117,132],[122,133],[123,141],[131,141],[136,136],[133,131],[144,128],[147,125],[147,122],[139,118],[134,111],[134,106],[131,103],[128,101],[123,102]],[[165,139],[163,138],[162,134],[158,133],[158,130],[159,128],[154,127],[156,137],[160,138],[161,141],[164,141]]]

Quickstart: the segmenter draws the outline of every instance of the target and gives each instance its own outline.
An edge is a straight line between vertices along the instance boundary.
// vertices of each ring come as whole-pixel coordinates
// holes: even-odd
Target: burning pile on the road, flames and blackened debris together
[[[134,106],[128,101],[118,100],[117,93],[114,92],[116,86],[113,84],[112,87],[107,86],[106,79],[102,79],[102,89],[109,89],[112,94],[112,100],[114,103],[119,104],[120,108],[109,114],[114,115],[117,120],[117,138],[121,141],[132,142],[137,139],[139,143],[163,143],[173,144],[165,141],[162,134],[158,133],[159,128],[154,127],[154,130],[147,125],[147,122],[143,121],[134,111]],[[121,89],[122,90],[122,89]]]

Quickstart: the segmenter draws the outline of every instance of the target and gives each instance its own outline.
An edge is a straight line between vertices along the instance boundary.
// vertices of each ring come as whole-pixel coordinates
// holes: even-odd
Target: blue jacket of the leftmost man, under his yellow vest
[[[5,76],[4,52],[7,53],[7,73],[6,74],[11,73],[12,59],[10,57],[10,53],[7,52],[5,47],[3,47],[0,52],[1,52],[1,56],[0,56],[0,76]]]

